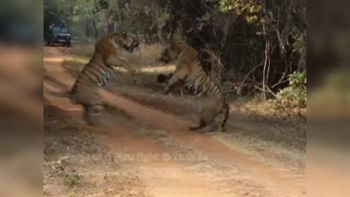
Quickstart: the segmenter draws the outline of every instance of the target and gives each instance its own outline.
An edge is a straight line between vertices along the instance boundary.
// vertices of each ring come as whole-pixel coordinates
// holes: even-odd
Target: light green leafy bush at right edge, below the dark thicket
[[[271,100],[276,108],[306,107],[306,72],[289,75],[289,85],[280,89],[276,99]]]

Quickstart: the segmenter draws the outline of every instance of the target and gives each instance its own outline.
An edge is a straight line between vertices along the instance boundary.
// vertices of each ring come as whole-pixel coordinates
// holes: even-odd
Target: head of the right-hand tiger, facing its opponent
[[[165,49],[159,58],[160,61],[168,63],[177,59],[180,53],[187,47],[186,44],[171,40],[165,44]]]

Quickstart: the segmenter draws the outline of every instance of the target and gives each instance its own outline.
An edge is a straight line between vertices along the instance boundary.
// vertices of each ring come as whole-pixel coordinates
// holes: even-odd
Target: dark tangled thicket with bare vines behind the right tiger
[[[271,85],[286,74],[306,68],[305,0],[158,2],[170,14],[166,33],[179,30],[184,40],[199,51],[204,69],[212,69],[218,76],[222,73],[222,78],[233,83],[241,82],[248,74],[247,79],[254,85]],[[213,66],[211,55],[203,49],[212,51],[222,66]],[[254,68],[264,62],[267,72],[263,73],[262,67]],[[223,68],[239,77],[226,74]]]

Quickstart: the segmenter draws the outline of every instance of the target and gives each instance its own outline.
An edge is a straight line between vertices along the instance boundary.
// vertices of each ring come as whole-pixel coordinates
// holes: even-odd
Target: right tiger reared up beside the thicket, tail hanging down
[[[174,73],[158,75],[157,82],[164,82],[169,77],[165,94],[170,92],[177,81],[181,81],[187,89],[192,90],[198,96],[198,123],[189,126],[189,129],[199,130],[208,127],[208,131],[214,131],[218,127],[214,118],[218,114],[224,113],[221,130],[225,131],[229,105],[220,87],[203,70],[198,59],[198,52],[185,43],[170,41],[170,44],[162,52],[160,60],[167,63],[174,59],[177,59]]]

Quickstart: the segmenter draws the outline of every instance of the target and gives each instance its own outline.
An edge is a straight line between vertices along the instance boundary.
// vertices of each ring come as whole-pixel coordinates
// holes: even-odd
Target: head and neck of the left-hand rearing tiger
[[[95,51],[105,55],[119,55],[123,52],[133,52],[139,46],[140,41],[125,31],[113,33],[101,38],[95,45]]]

